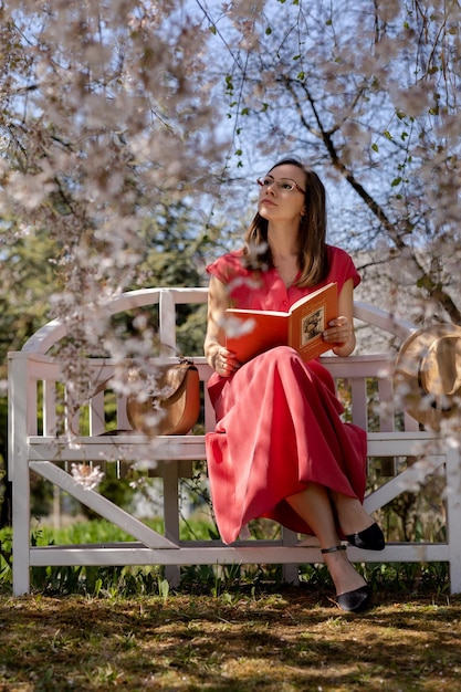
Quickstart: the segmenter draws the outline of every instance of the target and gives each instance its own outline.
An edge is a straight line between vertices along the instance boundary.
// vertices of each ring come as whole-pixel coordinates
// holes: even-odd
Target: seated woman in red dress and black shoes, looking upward
[[[366,433],[339,418],[333,380],[318,360],[305,364],[280,346],[241,364],[224,346],[223,327],[229,306],[286,312],[335,281],[340,316],[323,338],[336,355],[348,356],[355,348],[353,291],[360,279],[349,255],[325,242],[325,189],[316,174],[284,159],[258,182],[258,213],[244,249],[207,268],[205,353],[214,370],[209,392],[217,415],[207,458],[214,513],[226,543],[260,516],[314,534],[339,606],[358,611],[370,594],[340,538],[359,548],[385,546],[362,504]]]

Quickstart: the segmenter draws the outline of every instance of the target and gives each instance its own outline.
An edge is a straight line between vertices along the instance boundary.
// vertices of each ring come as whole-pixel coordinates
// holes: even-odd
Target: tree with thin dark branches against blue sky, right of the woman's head
[[[226,39],[237,166],[310,161],[339,184],[342,240],[387,276],[388,306],[411,291],[419,322],[460,323],[460,3],[277,0],[208,19]]]

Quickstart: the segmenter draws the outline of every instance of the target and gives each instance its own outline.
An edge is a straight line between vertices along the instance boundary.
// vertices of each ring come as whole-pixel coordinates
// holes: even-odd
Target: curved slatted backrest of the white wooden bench
[[[163,345],[165,357],[170,357],[177,349],[177,308],[184,304],[203,304],[207,302],[207,289],[145,289],[132,291],[112,298],[103,306],[94,308],[101,316],[107,317],[133,308],[158,305],[157,334]],[[409,323],[396,319],[381,310],[363,303],[355,304],[355,317],[397,339],[405,339],[412,331]],[[93,318],[95,315],[93,315]],[[62,419],[63,401],[71,395],[65,392],[65,377],[60,364],[49,355],[50,349],[67,335],[65,321],[52,321],[39,329],[24,345],[21,352],[10,354],[12,396],[14,388],[28,387],[27,433],[55,437]],[[184,354],[188,355],[188,354]],[[214,426],[213,411],[207,395],[206,384],[211,374],[203,357],[195,357],[203,387],[203,418],[198,431],[211,430]],[[325,356],[324,365],[335,379],[338,396],[345,405],[348,420],[371,431],[416,430],[418,424],[401,410],[394,400],[392,368],[390,354],[353,355],[348,358]],[[92,387],[108,379],[115,368],[115,361],[107,358],[87,359],[87,373]],[[60,389],[61,388],[61,389]],[[64,392],[63,392],[64,388]],[[114,395],[113,395],[114,398]],[[23,397],[21,400],[24,401]],[[114,401],[112,402],[114,407]],[[41,411],[41,415],[40,415]],[[71,417],[72,418],[72,417]],[[126,417],[126,398],[116,397],[116,420],[109,427],[129,429]],[[107,430],[107,396],[104,391],[95,395],[87,407],[81,409],[69,427],[77,434],[96,436]],[[69,430],[67,430],[69,431]],[[65,432],[65,431],[64,431]]]

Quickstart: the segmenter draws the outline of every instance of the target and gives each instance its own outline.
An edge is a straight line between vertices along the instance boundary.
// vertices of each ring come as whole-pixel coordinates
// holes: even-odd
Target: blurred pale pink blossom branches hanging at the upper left
[[[2,357],[65,316],[60,357],[85,387],[75,354],[112,328],[88,325],[87,304],[145,285],[166,238],[154,212],[197,199],[221,170],[209,36],[169,0],[0,3]]]

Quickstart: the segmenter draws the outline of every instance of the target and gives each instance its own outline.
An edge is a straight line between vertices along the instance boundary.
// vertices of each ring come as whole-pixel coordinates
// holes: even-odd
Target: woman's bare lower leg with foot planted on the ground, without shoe
[[[286,497],[286,502],[312,527],[321,548],[339,545],[332,501],[324,485],[310,483],[301,493]],[[325,553],[323,557],[338,596],[365,586],[365,579],[349,563],[345,551]]]

